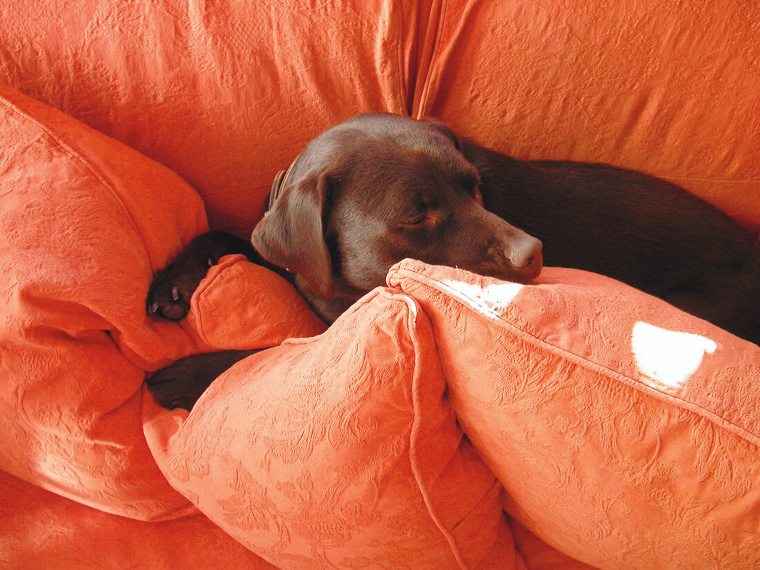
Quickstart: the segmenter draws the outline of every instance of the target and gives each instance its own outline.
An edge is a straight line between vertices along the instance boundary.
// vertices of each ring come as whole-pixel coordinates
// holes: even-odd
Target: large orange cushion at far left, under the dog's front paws
[[[240,348],[324,325],[293,287],[247,262],[241,269],[239,256],[209,272],[181,324],[148,318],[154,272],[207,228],[198,195],[163,166],[2,86],[0,119],[0,470],[131,518],[195,512],[145,443],[146,372],[225,348],[207,335],[210,315],[223,315]],[[221,287],[235,308],[214,283],[239,272],[249,276],[243,289]],[[214,309],[225,302],[229,311]]]

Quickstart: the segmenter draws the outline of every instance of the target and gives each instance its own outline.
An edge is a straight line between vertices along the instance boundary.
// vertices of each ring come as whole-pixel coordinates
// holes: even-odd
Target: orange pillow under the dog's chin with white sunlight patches
[[[522,286],[406,260],[503,504],[598,568],[760,566],[760,348],[606,277]]]

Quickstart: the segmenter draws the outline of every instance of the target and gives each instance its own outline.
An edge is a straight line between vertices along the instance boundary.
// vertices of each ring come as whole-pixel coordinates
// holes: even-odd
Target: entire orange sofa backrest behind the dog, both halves
[[[307,141],[372,110],[664,176],[756,232],[758,21],[736,0],[0,0],[0,81],[169,166],[241,236]]]

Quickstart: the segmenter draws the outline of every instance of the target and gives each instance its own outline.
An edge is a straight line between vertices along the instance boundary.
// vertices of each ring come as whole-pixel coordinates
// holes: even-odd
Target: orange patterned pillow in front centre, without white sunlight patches
[[[426,316],[375,290],[238,363],[189,415],[146,398],[145,432],[176,489],[282,568],[524,568],[444,391]]]

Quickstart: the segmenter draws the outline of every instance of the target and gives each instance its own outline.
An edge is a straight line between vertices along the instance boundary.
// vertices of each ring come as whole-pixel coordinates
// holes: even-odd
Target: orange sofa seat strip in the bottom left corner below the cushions
[[[277,570],[204,515],[160,523],[135,521],[70,501],[2,471],[0,497],[3,570]]]

